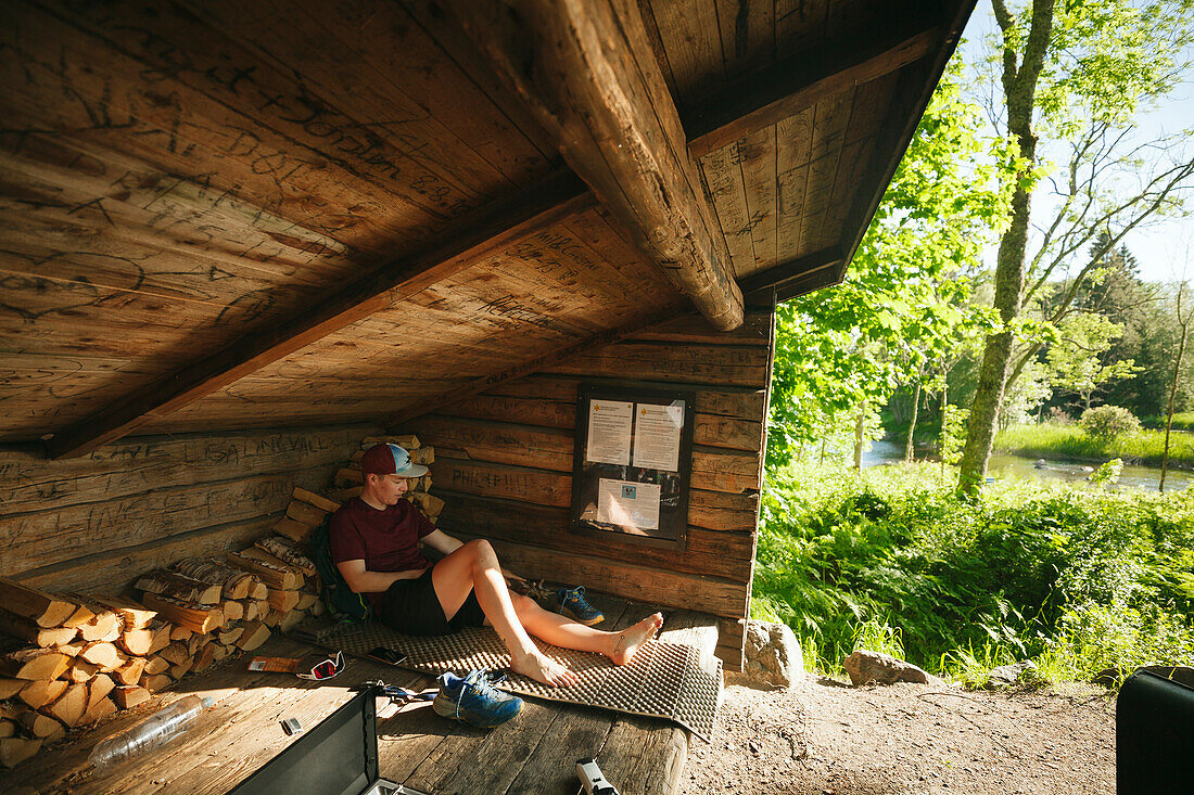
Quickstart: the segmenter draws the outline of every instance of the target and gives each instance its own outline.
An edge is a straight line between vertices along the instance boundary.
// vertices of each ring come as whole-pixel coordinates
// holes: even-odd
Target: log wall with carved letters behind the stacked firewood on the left
[[[325,488],[369,425],[136,437],[85,458],[0,448],[0,577],[116,591],[269,535],[295,486]]]

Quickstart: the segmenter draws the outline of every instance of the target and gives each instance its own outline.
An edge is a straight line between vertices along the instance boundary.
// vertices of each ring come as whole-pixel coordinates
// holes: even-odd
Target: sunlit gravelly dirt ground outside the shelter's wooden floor
[[[684,778],[684,795],[1110,794],[1115,703],[1088,685],[730,685],[713,742],[689,745]]]

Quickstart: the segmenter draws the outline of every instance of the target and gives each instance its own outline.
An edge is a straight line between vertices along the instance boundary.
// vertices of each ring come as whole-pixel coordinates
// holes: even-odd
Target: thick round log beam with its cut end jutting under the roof
[[[714,327],[738,327],[730,252],[634,0],[445,5],[636,245]]]

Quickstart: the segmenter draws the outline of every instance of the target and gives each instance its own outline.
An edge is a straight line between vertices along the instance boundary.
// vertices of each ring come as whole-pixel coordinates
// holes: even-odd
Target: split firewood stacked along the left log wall
[[[49,593],[0,578],[0,766],[322,615],[307,542],[341,500],[361,493],[355,464],[381,442],[408,449],[416,463],[435,460],[413,436],[365,438],[336,475],[336,499],[296,487],[273,535],[146,572],[133,584],[136,599]],[[417,479],[406,499],[435,520],[443,501],[430,487],[430,475]]]

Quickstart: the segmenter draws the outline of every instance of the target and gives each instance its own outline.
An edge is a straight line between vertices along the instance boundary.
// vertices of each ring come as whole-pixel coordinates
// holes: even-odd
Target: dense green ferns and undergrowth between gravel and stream
[[[936,464],[794,467],[768,480],[752,614],[806,667],[855,648],[962,682],[1034,659],[1042,680],[1194,660],[1194,500],[1001,481],[973,501]]]

